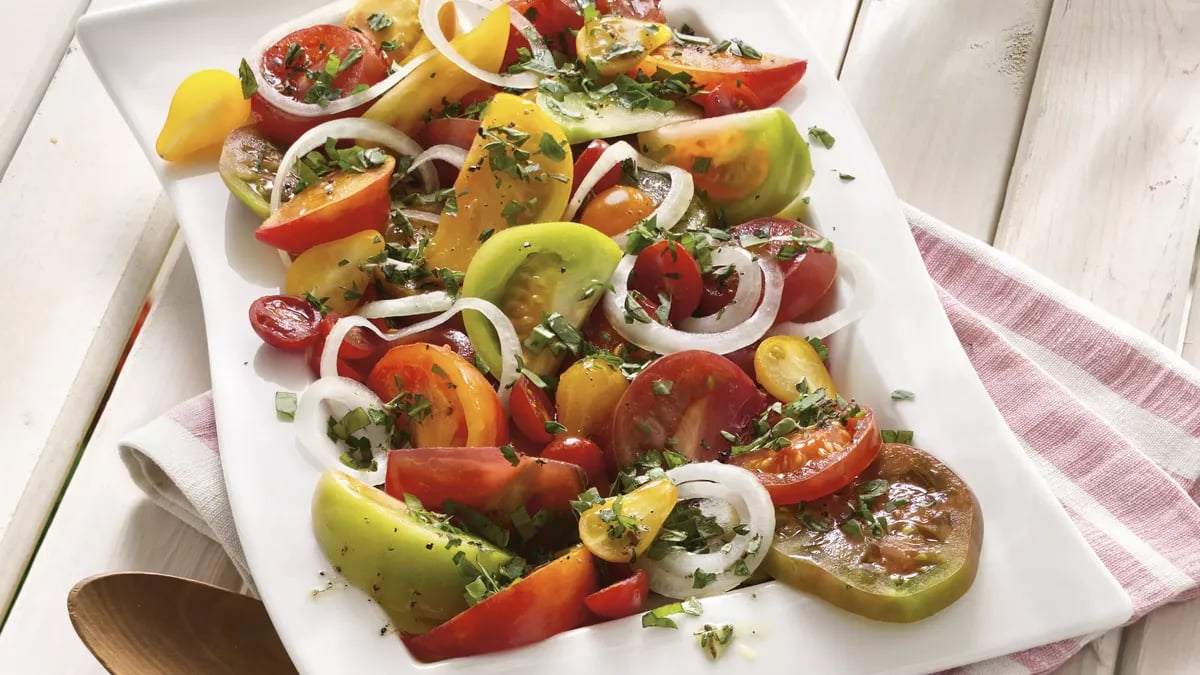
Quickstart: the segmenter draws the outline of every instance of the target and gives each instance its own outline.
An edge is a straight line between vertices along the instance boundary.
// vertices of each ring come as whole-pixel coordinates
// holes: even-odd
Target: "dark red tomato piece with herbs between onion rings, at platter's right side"
[[[733,240],[744,235],[754,235],[756,231],[767,231],[769,237],[786,237],[792,231],[804,229],[804,237],[820,237],[817,231],[797,222],[794,220],[780,217],[760,217],[744,222],[733,228]],[[770,241],[761,246],[754,246],[754,251],[764,251],[773,258],[786,244],[782,241]],[[833,288],[838,277],[838,258],[833,253],[809,249],[796,256],[791,261],[780,261],[780,269],[784,273],[784,297],[780,303],[779,315],[775,323],[794,321],[797,317],[815,307],[817,303]],[[737,279],[731,279],[730,283],[737,289]]]

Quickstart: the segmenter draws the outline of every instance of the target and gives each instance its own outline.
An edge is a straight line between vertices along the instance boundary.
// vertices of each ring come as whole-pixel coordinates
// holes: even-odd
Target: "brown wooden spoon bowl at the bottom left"
[[[76,633],[114,675],[294,674],[263,603],[170,577],[90,577],[67,595]]]

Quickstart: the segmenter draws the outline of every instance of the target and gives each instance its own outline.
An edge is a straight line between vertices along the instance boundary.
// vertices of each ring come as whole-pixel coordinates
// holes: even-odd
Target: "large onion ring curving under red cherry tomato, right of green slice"
[[[617,333],[630,342],[659,354],[673,354],[686,350],[707,350],[718,354],[727,354],[754,344],[775,323],[779,304],[784,293],[784,275],[775,261],[764,257],[755,258],[763,276],[763,295],[758,309],[738,325],[719,333],[686,333],[667,328],[661,323],[625,323],[625,299],[629,297],[629,273],[634,269],[637,256],[625,256],[612,273],[611,293],[605,293],[604,313]]]

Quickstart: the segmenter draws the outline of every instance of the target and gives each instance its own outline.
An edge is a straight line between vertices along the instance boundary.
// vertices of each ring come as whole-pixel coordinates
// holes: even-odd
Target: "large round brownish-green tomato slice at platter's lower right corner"
[[[983,527],[961,478],[922,450],[888,443],[845,489],[778,509],[763,566],[854,614],[918,621],[971,587]]]

